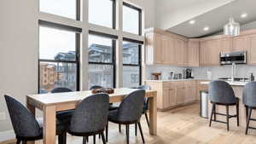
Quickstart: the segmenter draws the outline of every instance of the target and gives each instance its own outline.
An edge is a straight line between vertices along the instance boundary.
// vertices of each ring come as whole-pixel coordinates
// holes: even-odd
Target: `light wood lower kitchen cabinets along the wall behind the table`
[[[146,81],[151,89],[157,91],[157,107],[166,110],[183,106],[197,100],[196,80],[188,81]]]

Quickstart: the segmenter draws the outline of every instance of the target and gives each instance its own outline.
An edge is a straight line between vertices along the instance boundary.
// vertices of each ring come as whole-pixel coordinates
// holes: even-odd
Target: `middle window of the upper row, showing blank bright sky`
[[[89,22],[115,28],[115,0],[89,0]]]

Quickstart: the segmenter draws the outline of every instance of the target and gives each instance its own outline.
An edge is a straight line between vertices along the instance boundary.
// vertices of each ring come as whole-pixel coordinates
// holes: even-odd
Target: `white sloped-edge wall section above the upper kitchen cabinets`
[[[160,0],[156,4],[155,26],[167,30],[234,0]]]

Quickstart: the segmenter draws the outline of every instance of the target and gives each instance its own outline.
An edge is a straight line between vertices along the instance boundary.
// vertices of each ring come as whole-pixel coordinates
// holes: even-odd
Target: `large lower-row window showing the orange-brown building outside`
[[[47,25],[45,22],[39,26],[40,93],[49,92],[56,87],[79,90],[80,30],[72,32],[60,27],[50,23]]]

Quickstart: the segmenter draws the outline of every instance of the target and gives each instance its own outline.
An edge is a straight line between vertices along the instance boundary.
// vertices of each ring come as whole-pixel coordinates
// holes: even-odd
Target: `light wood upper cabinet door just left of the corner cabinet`
[[[174,47],[176,51],[177,66],[183,66],[184,64],[184,45],[183,40],[175,39]]]

